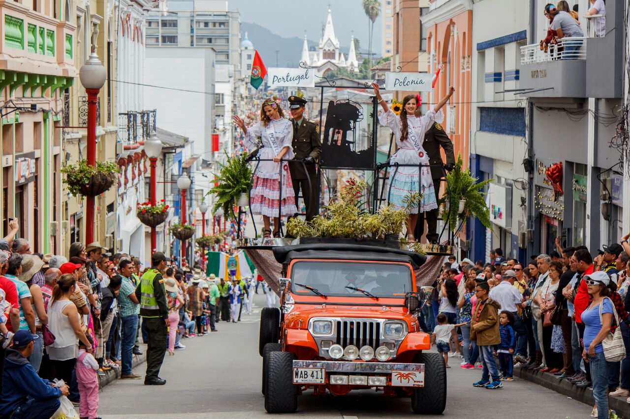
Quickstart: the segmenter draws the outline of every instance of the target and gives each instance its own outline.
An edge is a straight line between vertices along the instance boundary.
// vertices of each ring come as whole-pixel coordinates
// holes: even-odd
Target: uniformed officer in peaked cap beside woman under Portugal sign
[[[306,206],[306,221],[311,221],[317,215],[317,204],[319,199],[317,170],[315,162],[321,154],[321,140],[319,140],[319,125],[315,121],[304,118],[306,99],[299,95],[289,97],[290,121],[293,123],[293,152],[294,160],[299,162],[290,163],[289,170],[295,191],[295,201],[302,189],[302,197]],[[306,172],[304,165],[306,165]],[[309,179],[311,186],[309,188]],[[310,190],[309,190],[310,189]],[[297,214],[295,215],[297,216]]]

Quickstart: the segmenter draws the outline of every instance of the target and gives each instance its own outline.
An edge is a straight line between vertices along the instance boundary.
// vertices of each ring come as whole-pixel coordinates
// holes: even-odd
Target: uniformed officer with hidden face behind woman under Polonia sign
[[[425,140],[422,143],[422,147],[427,152],[429,157],[429,164],[431,165],[431,177],[433,179],[433,187],[435,187],[435,196],[440,196],[440,187],[442,182],[440,179],[446,176],[446,170],[453,170],[455,167],[455,152],[453,150],[453,143],[450,141],[448,135],[446,135],[442,125],[437,122],[433,123],[431,128],[425,133]],[[442,162],[442,155],[440,154],[440,147],[444,148],[446,154],[446,164]],[[438,243],[440,236],[437,233],[437,216],[438,210],[427,211],[426,213],[418,214],[418,223],[416,223],[415,236],[420,238],[425,232],[425,220],[427,220],[427,241],[429,243]]]

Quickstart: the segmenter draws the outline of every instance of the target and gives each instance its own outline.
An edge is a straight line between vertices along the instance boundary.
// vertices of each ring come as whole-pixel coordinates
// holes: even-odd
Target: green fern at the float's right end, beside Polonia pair
[[[444,198],[444,210],[442,219],[448,223],[450,230],[457,228],[457,222],[467,216],[479,219],[486,228],[492,228],[490,223],[490,210],[486,205],[486,193],[484,186],[493,179],[479,182],[477,177],[471,175],[470,170],[463,170],[462,156],[457,155],[455,167],[446,176],[446,189]]]

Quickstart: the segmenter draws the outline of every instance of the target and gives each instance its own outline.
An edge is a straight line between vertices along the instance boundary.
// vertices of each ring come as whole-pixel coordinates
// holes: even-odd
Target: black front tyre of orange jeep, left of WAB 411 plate
[[[297,386],[293,384],[292,352],[269,352],[263,358],[265,368],[265,410],[267,413],[294,413],[297,410]]]

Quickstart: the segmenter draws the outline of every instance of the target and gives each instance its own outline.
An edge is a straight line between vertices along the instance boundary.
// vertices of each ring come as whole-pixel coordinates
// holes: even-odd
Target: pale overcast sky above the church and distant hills
[[[341,46],[350,45],[353,34],[367,50],[367,16],[361,6],[361,0],[273,0],[259,2],[255,0],[229,0],[229,9],[241,13],[241,21],[265,26],[276,35],[302,38],[304,31],[309,41],[318,42],[321,38],[322,25],[326,23],[328,4],[333,12],[335,35]],[[381,4],[383,2],[381,1]],[[382,18],[374,23],[374,45],[372,49],[381,53]],[[255,40],[252,40],[256,44]]]

